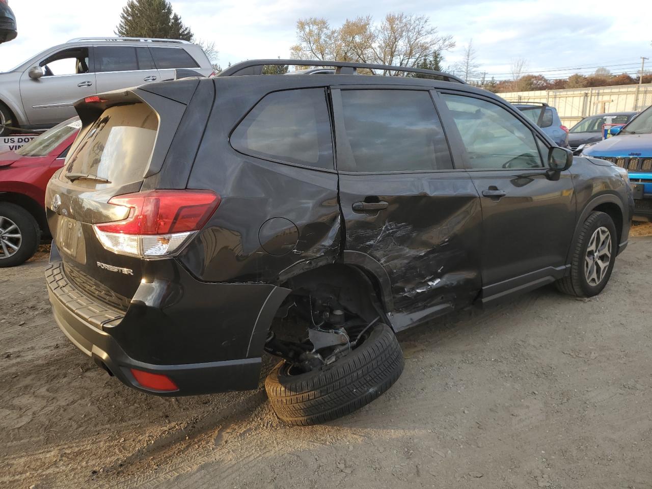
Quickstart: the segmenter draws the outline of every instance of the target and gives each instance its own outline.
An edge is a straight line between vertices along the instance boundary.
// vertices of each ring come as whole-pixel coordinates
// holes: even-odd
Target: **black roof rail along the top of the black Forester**
[[[373,63],[354,63],[353,61],[320,61],[314,59],[250,59],[226,68],[218,76],[259,75],[265,65],[293,65],[304,67],[336,67],[336,74],[355,74],[357,68],[368,70],[401,71],[408,73],[421,73],[424,75],[439,76],[447,82],[465,83],[462,78],[455,75],[435,70],[422,68],[394,67],[391,65],[374,65]]]

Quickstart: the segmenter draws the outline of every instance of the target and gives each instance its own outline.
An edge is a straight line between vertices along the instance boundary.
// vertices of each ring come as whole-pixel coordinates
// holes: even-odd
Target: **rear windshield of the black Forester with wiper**
[[[157,130],[158,117],[146,104],[108,108],[70,150],[62,179],[91,188],[142,180]]]

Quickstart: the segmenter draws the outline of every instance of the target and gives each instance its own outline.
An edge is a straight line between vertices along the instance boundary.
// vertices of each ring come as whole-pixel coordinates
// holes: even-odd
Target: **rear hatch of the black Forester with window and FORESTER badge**
[[[160,224],[147,221],[148,213],[158,216],[156,189],[186,186],[195,133],[203,134],[215,93],[208,82],[201,89],[198,80],[158,83],[76,104],[82,128],[48,183],[48,225],[68,279],[114,308],[126,310],[151,260],[168,258],[156,236],[134,234]],[[143,248],[153,254],[144,258]]]

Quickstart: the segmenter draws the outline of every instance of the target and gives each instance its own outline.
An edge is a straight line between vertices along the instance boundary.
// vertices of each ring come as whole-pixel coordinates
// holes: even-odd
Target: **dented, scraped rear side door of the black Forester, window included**
[[[423,89],[334,87],[344,253],[389,277],[396,329],[471,302],[481,287],[481,213]]]

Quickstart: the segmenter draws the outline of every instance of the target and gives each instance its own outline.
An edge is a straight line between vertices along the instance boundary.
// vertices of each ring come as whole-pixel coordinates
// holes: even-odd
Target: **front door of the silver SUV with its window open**
[[[30,126],[52,126],[77,115],[74,103],[94,95],[95,73],[90,48],[78,46],[58,51],[38,65],[44,75],[29,78],[29,69],[20,77],[20,95]]]

